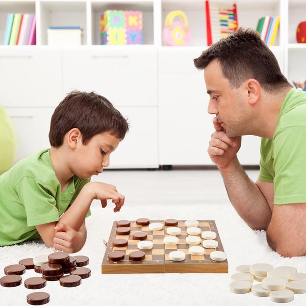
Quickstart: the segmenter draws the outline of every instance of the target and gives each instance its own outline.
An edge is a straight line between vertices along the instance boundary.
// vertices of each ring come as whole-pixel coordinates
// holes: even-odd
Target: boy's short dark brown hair
[[[50,144],[60,147],[64,135],[75,127],[81,131],[84,145],[103,132],[111,132],[122,140],[129,130],[126,119],[107,98],[94,92],[77,90],[68,93],[55,109],[50,123]]]

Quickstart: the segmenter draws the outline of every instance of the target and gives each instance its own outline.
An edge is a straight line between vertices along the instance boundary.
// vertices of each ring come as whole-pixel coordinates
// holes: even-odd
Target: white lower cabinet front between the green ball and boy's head
[[[53,108],[6,108],[17,138],[15,163],[30,154],[50,147],[48,134]]]

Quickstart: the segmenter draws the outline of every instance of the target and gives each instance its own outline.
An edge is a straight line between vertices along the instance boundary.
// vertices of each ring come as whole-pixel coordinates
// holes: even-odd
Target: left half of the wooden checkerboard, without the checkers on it
[[[160,222],[163,220],[150,220],[150,223]],[[153,241],[153,248],[150,250],[142,250],[146,256],[143,261],[130,261],[129,254],[138,250],[137,243],[140,240],[133,239],[133,233],[146,232],[147,240]],[[113,241],[118,238],[124,238],[129,241],[125,247],[114,247]],[[116,221],[113,223],[110,238],[105,251],[104,259],[102,262],[102,273],[164,273],[165,272],[165,247],[164,247],[164,230],[150,231],[148,225],[138,225],[136,221],[131,221],[131,233],[130,235],[122,236],[116,234]],[[125,253],[125,258],[119,262],[112,262],[108,259],[108,253],[112,251],[120,250]]]

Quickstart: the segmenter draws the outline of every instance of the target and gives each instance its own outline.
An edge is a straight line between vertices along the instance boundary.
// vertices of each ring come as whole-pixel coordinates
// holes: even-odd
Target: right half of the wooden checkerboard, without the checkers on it
[[[210,253],[212,251],[224,251],[223,245],[217,230],[215,221],[213,220],[199,220],[199,228],[201,232],[212,231],[217,234],[215,240],[218,241],[218,247],[216,249],[205,248],[205,253],[202,256],[192,256],[188,254],[188,248],[192,245],[186,244],[187,227],[185,226],[184,220],[179,220],[179,224],[176,225],[180,227],[182,232],[181,235],[176,235],[180,242],[177,245],[165,245],[165,272],[166,273],[227,273],[228,272],[228,262],[225,261],[213,261],[210,258]],[[169,226],[165,226],[165,233]],[[165,237],[170,236],[167,233]],[[201,235],[197,235],[201,238],[201,243],[203,242]],[[201,246],[201,245],[199,245]],[[185,261],[175,262],[169,260],[169,253],[172,251],[183,251],[186,253]]]

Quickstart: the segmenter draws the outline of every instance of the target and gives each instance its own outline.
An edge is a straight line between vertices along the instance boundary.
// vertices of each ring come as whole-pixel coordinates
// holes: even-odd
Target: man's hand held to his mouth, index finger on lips
[[[216,117],[213,118],[215,132],[209,142],[208,154],[219,169],[226,168],[241,146],[241,136],[228,137]]]

